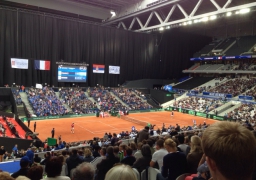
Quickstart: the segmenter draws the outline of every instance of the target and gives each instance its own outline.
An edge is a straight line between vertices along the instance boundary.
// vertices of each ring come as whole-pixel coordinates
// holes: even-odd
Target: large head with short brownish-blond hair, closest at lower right
[[[202,147],[213,179],[252,179],[256,142],[242,125],[227,121],[211,125],[204,132]]]

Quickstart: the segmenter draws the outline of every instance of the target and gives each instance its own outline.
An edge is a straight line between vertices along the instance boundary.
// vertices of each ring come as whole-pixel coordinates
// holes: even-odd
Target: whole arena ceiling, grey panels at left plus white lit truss
[[[89,23],[152,32],[236,17],[256,20],[255,0],[8,0],[21,8],[72,13]],[[1,2],[3,3],[3,2]],[[0,4],[1,4],[0,3]],[[22,5],[26,6],[22,6]],[[50,11],[52,12],[52,11]],[[244,19],[243,19],[244,21]],[[223,22],[221,22],[223,23]]]

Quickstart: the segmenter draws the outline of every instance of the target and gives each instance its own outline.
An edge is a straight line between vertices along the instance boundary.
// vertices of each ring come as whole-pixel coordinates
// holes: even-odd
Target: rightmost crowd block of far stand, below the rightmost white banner
[[[142,98],[137,96],[131,89],[116,88],[112,89],[112,92],[119,97],[123,102],[129,105],[130,110],[145,110],[153,108]]]

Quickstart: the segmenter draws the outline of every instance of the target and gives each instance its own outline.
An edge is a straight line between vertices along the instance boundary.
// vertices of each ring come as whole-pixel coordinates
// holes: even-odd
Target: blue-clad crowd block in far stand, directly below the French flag
[[[29,88],[26,93],[37,117],[65,115],[68,113],[68,110],[50,87],[45,86],[43,89]]]

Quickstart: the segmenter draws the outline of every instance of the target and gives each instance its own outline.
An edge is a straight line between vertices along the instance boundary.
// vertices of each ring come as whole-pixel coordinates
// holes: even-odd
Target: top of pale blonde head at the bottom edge
[[[105,180],[138,180],[135,172],[128,165],[118,165],[111,168]]]

